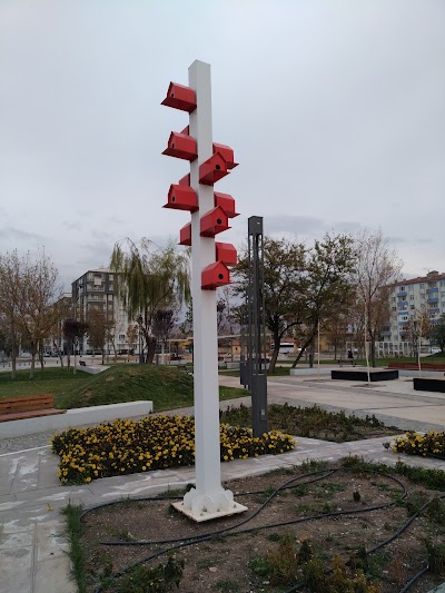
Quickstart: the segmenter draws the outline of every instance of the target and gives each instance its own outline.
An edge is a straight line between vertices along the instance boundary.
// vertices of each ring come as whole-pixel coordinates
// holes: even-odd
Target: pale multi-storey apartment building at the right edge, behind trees
[[[426,310],[433,324],[445,314],[445,273],[433,270],[426,276],[396,283],[389,305],[390,323],[384,328],[383,338],[406,343],[409,339],[407,323],[418,318],[419,312]]]

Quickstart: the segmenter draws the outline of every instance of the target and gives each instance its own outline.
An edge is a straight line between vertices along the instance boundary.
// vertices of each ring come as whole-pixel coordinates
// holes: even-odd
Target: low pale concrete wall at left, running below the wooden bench
[[[101,422],[115,421],[116,418],[131,418],[135,416],[147,416],[152,412],[152,402],[128,402],[123,404],[110,404],[108,406],[78,407],[68,409],[66,414],[56,416],[40,416],[38,418],[26,418],[22,421],[2,422],[0,433],[2,438],[21,436],[34,433],[46,433],[49,431],[60,431],[63,428],[99,424]]]

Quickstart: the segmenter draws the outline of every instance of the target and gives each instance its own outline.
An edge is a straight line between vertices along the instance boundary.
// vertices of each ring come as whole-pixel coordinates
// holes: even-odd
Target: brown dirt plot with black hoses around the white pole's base
[[[443,493],[414,485],[405,478],[336,467],[317,468],[318,473],[314,473],[314,467],[303,466],[227,483],[235,500],[248,511],[210,523],[191,522],[171,507],[171,500],[128,501],[89,512],[82,520],[88,591],[93,591],[105,575],[175,545],[156,542],[184,542],[206,534],[209,537],[205,541],[175,551],[176,559],[185,561],[179,585],[182,593],[293,591],[293,585],[303,579],[301,569],[295,566],[298,566],[305,541],[320,555],[325,569],[332,567],[333,559],[342,555],[352,562],[349,575],[354,576],[363,566],[368,582],[379,584],[380,589],[374,591],[400,591],[427,564],[425,541],[435,550],[444,544],[445,503],[431,505],[393,542],[365,560],[360,550],[369,551],[388,540],[423,503]],[[270,497],[284,484],[288,487]],[[383,507],[372,510],[375,506]],[[226,533],[218,533],[228,528]],[[141,540],[150,544],[109,546],[100,543],[131,544]],[[286,557],[280,542],[285,540],[295,547],[291,554],[295,574],[290,582],[284,582],[286,577],[283,576]],[[164,554],[148,565],[155,566],[166,560]],[[443,570],[444,566],[438,564]],[[276,570],[271,571],[270,566]],[[409,592],[424,593],[444,580],[441,574],[427,572]],[[102,591],[126,591],[120,583],[119,579],[113,580],[111,586]],[[298,591],[318,590],[301,587]]]

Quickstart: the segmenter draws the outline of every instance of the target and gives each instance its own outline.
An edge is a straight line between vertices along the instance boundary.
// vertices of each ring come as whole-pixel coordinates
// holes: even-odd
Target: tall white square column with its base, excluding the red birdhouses
[[[212,155],[210,65],[196,60],[190,66],[189,87],[197,99],[189,134],[198,146],[198,158],[190,164],[190,185],[199,205],[191,215],[196,488],[175,506],[195,521],[206,521],[246,507],[221,486],[216,290],[201,289],[201,271],[215,261],[215,238],[200,236],[200,218],[215,207],[214,187],[199,184],[199,166]]]

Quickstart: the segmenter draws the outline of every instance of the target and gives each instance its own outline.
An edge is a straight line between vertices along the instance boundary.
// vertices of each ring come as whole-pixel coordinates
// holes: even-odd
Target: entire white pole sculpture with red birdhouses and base
[[[214,191],[214,185],[237,164],[230,147],[212,141],[208,63],[190,66],[188,87],[170,82],[162,105],[189,113],[189,125],[170,134],[162,152],[190,162],[190,172],[170,186],[165,205],[191,215],[179,243],[191,245],[196,488],[175,506],[195,521],[207,521],[246,511],[221,485],[216,308],[216,289],[230,283],[228,266],[236,264],[237,254],[233,245],[215,243],[215,236],[229,228],[237,213],[234,198]]]

